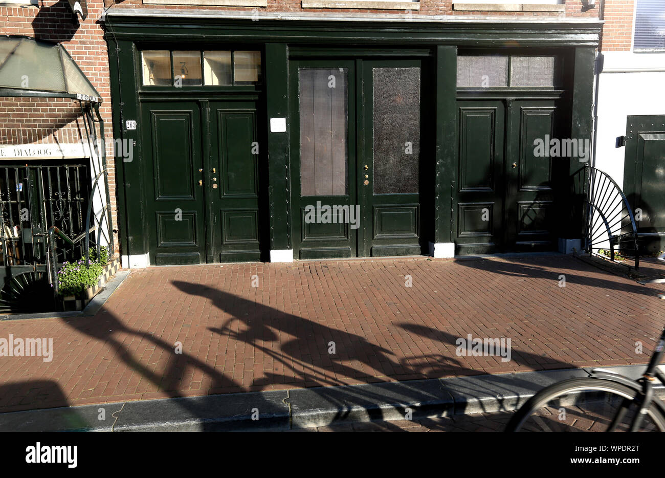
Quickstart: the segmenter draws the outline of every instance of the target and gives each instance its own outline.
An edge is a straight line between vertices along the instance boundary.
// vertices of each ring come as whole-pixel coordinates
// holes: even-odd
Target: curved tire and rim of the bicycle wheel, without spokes
[[[527,400],[511,417],[505,427],[505,431],[520,431],[522,425],[531,415],[535,414],[535,411],[541,409],[541,407],[557,397],[587,391],[614,393],[628,399],[634,399],[640,392],[636,387],[628,387],[628,385],[602,378],[581,377],[563,380],[545,387]],[[665,409],[662,403],[658,401],[658,398],[654,397],[647,409],[647,413],[656,424],[656,427],[660,431],[665,431]]]

